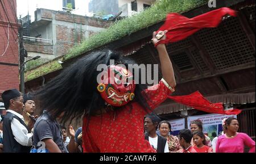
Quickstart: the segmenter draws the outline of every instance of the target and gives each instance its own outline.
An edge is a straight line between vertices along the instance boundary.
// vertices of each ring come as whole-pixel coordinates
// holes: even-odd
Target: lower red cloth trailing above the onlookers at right
[[[193,107],[196,110],[205,111],[208,113],[218,113],[222,115],[238,115],[241,110],[224,110],[222,103],[211,103],[200,94],[199,91],[193,92],[190,95],[184,96],[168,96],[168,98],[174,100],[177,103],[184,104],[189,107]]]

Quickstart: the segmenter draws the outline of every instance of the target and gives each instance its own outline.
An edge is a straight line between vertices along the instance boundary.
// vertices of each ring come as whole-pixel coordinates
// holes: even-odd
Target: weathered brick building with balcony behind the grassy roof
[[[74,45],[109,27],[111,23],[48,9],[37,9],[32,23],[28,17],[23,20],[24,47],[28,57],[39,55],[48,60],[65,55]]]

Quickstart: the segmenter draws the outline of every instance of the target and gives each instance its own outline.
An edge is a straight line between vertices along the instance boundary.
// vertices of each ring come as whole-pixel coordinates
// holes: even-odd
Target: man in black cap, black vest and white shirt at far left
[[[22,111],[24,108],[22,94],[16,90],[6,90],[2,93],[3,103],[7,113],[3,120],[3,152],[26,153],[30,152],[34,123],[24,123]]]

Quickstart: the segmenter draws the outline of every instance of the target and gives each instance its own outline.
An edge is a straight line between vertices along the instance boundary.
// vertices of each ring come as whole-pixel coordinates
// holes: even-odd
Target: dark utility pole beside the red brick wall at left
[[[20,91],[22,94],[25,94],[25,85],[24,85],[24,47],[23,47],[23,26],[22,19],[20,19],[20,27],[19,27],[19,77],[20,77]]]

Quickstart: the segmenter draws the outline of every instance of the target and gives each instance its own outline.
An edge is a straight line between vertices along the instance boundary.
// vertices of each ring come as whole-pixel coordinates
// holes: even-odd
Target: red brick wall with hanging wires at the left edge
[[[8,89],[19,89],[19,51],[16,1],[0,2],[0,95]],[[8,19],[9,18],[9,19]],[[10,21],[10,22],[9,22]],[[9,24],[9,27],[8,27]],[[9,30],[9,32],[8,32]],[[9,34],[9,46],[8,45]],[[7,50],[5,52],[5,49]],[[3,54],[5,52],[5,54]],[[2,55],[3,54],[3,55]],[[1,96],[0,96],[1,99]]]

